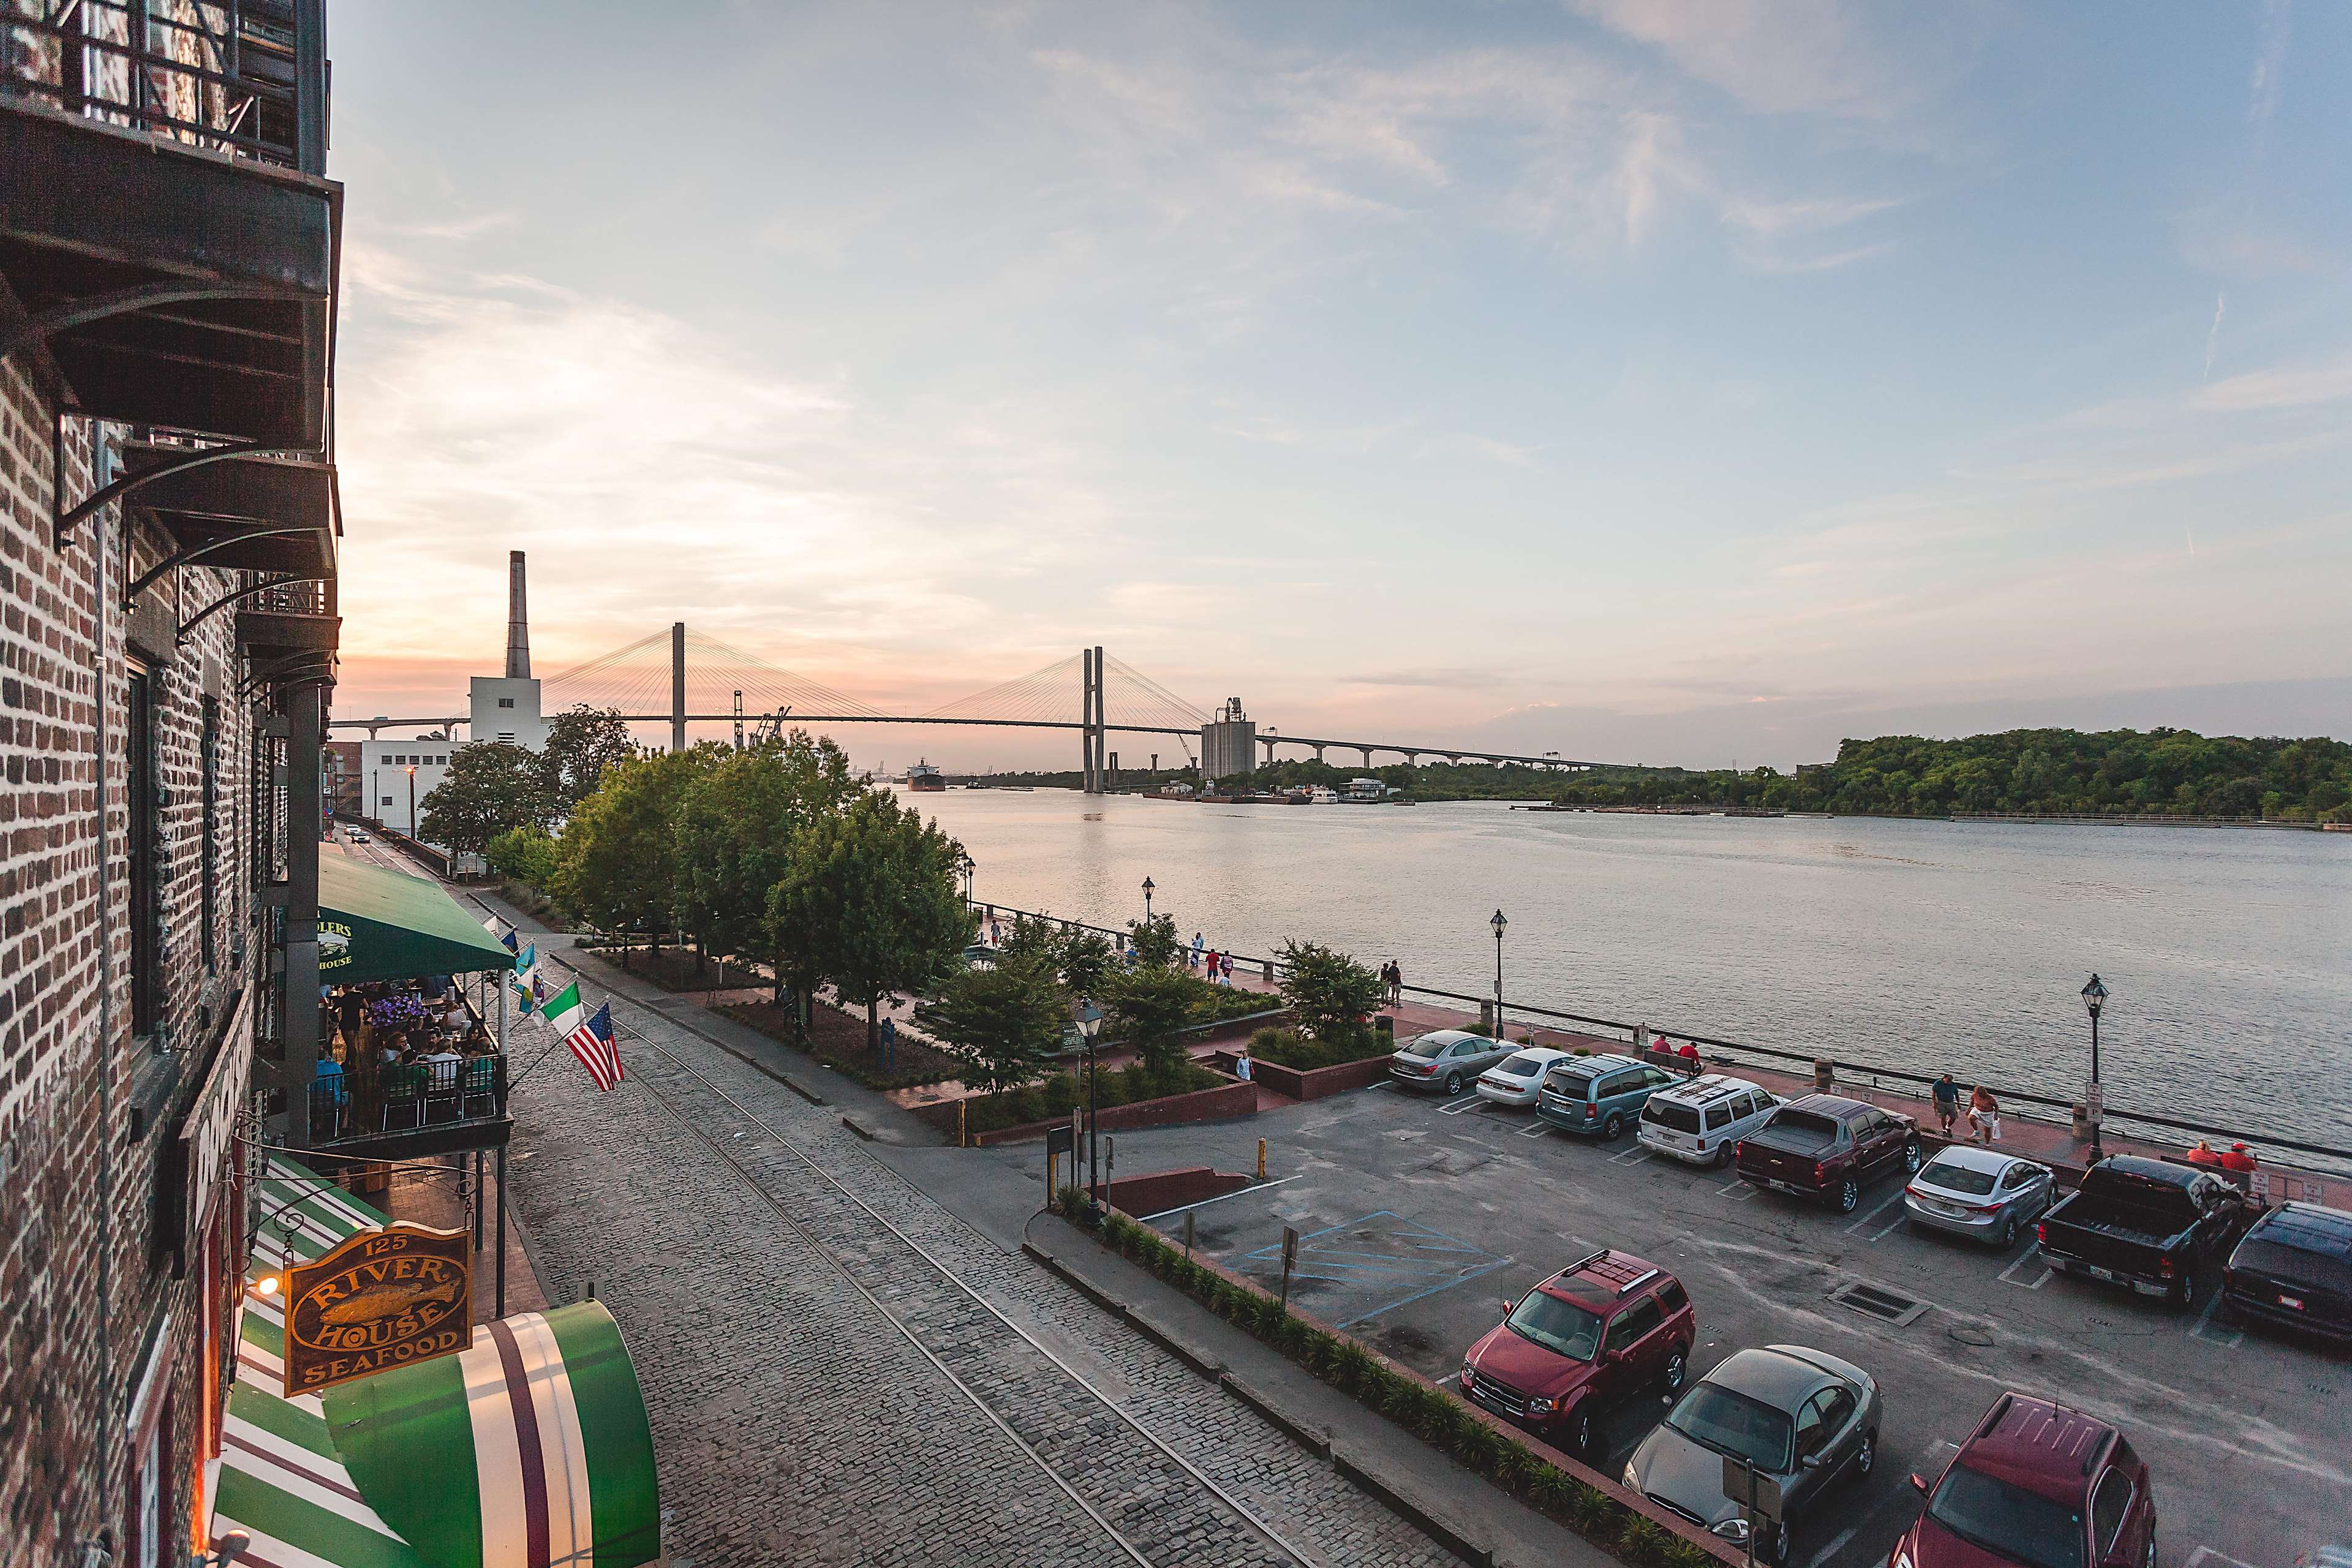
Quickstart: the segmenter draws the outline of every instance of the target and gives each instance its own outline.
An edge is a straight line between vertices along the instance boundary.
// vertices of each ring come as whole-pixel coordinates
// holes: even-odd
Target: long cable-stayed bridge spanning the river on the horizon
[[[774,665],[729,642],[696,632],[684,623],[675,623],[663,632],[652,632],[546,677],[541,696],[543,712],[548,715],[586,703],[619,712],[633,724],[668,724],[673,750],[684,750],[689,724],[734,724],[739,741],[746,729],[774,733],[788,724],[807,729],[828,729],[835,724],[1068,729],[1080,733],[1082,773],[1089,788],[1103,788],[1108,778],[1108,736],[1176,736],[1183,741],[1185,757],[1190,759],[1195,748],[1211,745],[1218,738],[1216,731],[1223,724],[1237,724],[1237,729],[1225,729],[1221,736],[1228,748],[1235,743],[1242,748],[1263,748],[1268,762],[1272,762],[1277,748],[1287,745],[1312,752],[1317,762],[1324,759],[1327,750],[1357,752],[1364,766],[1371,766],[1374,757],[1390,755],[1404,762],[1442,757],[1446,762],[1519,762],[1541,769],[1604,766],[1566,759],[1559,752],[1522,757],[1442,743],[1287,736],[1242,722],[1237,710],[1230,717],[1211,712],[1169,691],[1127,661],[1108,656],[1101,646],[1080,649],[1040,670],[983,686],[924,712],[889,712],[807,675]],[[365,729],[374,736],[381,729],[419,724],[456,726],[466,722],[466,715],[416,719],[379,715],[374,719],[334,719],[334,726]]]

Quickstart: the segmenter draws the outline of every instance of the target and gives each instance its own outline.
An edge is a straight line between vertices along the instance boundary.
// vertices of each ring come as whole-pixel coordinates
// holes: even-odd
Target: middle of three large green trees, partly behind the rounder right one
[[[793,835],[856,792],[849,757],[795,729],[783,741],[720,750],[677,802],[677,903],[720,954],[774,959],[769,891]],[[783,990],[779,964],[776,990]]]

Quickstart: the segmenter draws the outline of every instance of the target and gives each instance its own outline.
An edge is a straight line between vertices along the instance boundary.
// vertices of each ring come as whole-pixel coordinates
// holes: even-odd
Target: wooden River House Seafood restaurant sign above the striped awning
[[[473,1237],[390,1222],[287,1274],[287,1399],[473,1349]]]

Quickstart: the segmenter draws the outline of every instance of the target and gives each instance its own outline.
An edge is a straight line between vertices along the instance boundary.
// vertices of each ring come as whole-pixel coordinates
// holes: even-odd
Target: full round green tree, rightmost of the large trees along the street
[[[962,964],[974,912],[955,886],[955,839],[884,792],[804,823],[769,898],[774,945],[866,1006],[866,1048],[880,1001],[924,990]]]

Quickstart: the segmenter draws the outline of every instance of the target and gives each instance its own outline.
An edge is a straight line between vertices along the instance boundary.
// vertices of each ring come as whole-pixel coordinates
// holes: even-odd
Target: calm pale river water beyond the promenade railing
[[[2352,835],[908,797],[981,900],[2352,1147]]]

